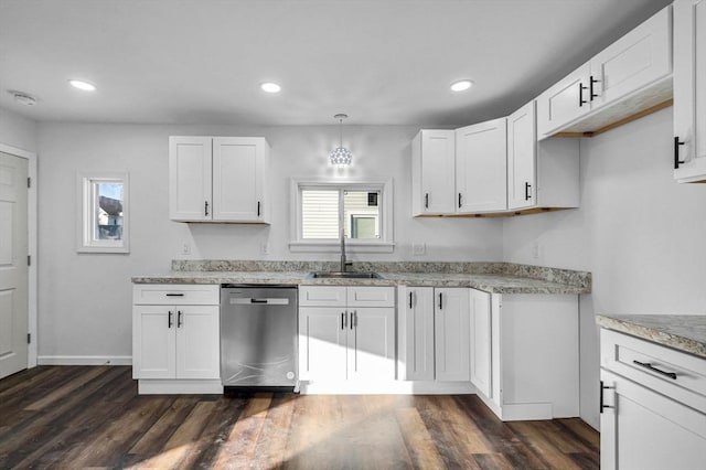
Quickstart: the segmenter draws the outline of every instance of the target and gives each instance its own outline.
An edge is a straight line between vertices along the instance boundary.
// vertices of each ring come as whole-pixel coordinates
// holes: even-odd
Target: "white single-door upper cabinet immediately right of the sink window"
[[[453,212],[456,132],[420,130],[411,143],[413,215]]]

